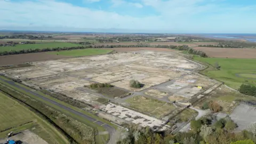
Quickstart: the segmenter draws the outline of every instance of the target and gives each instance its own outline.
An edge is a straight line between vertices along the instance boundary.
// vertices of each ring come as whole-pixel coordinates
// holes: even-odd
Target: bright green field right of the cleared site
[[[218,79],[226,85],[238,89],[243,83],[256,84],[256,59],[227,59],[227,58],[202,58],[194,57],[194,60],[206,63],[209,68],[202,71],[203,74]],[[218,62],[220,70],[215,69]],[[243,74],[241,76],[241,74]]]

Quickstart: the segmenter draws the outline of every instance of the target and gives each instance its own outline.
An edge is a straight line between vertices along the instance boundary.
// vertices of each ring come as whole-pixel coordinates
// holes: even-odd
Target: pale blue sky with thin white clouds
[[[0,0],[0,30],[256,33],[256,0]]]

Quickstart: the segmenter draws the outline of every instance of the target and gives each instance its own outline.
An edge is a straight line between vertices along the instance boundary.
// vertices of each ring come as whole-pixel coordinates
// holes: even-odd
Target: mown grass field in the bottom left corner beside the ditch
[[[28,123],[30,122],[30,123]],[[31,129],[36,127],[35,133],[49,143],[67,143],[67,138],[55,130],[49,123],[35,115],[32,111],[19,104],[19,102],[7,97],[0,92],[0,131],[10,129],[0,133],[0,137],[5,137],[6,133],[13,131]],[[27,123],[27,124],[25,124]],[[47,131],[46,131],[47,130]],[[39,132],[39,133],[37,133]]]

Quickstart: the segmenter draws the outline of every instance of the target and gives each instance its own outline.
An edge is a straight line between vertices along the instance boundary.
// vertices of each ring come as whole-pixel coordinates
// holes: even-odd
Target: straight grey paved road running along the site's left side
[[[21,86],[15,84],[13,81],[6,81],[5,79],[2,79],[2,78],[0,78],[0,80],[1,80],[1,81],[4,81],[4,82],[6,82],[6,83],[8,83],[8,84],[10,84],[10,85],[12,85],[12,86],[17,87],[18,89],[21,89],[21,90],[26,91],[26,92],[28,92],[28,93],[30,93],[30,94],[33,94],[33,95],[35,95],[36,97],[39,97],[39,98],[41,98],[41,99],[43,99],[43,100],[45,100],[45,101],[51,102],[53,105],[56,105],[56,106],[58,106],[58,107],[61,107],[61,108],[65,109],[65,110],[69,111],[70,113],[73,113],[73,114],[78,115],[78,116],[80,116],[80,117],[86,118],[87,120],[89,120],[89,121],[92,122],[92,123],[95,123],[95,124],[97,124],[97,125],[99,125],[99,126],[103,126],[103,127],[108,131],[108,133],[109,133],[109,135],[110,135],[110,140],[111,140],[111,138],[113,138],[112,136],[113,136],[113,134],[115,133],[115,128],[114,128],[114,127],[112,127],[112,126],[110,126],[110,125],[108,125],[108,124],[106,124],[106,123],[103,123],[103,122],[101,122],[101,121],[98,121],[97,119],[94,119],[94,118],[92,118],[92,117],[90,117],[90,116],[87,116],[87,115],[85,115],[85,114],[83,114],[83,113],[80,113],[79,111],[76,111],[76,110],[71,109],[71,108],[69,108],[69,107],[63,106],[63,105],[61,105],[60,103],[55,102],[55,101],[53,101],[53,100],[51,100],[51,99],[45,98],[45,97],[43,97],[42,95],[40,95],[40,94],[38,94],[38,93],[35,93],[35,92],[30,91],[30,90],[28,90],[28,89],[25,89],[25,87],[21,87]],[[109,140],[109,141],[110,141],[110,140]]]

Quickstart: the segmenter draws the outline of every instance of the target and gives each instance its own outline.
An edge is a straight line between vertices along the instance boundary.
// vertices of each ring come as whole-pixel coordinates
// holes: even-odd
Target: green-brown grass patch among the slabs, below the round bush
[[[125,101],[130,107],[142,112],[161,117],[175,109],[175,106],[155,99],[135,96]]]

